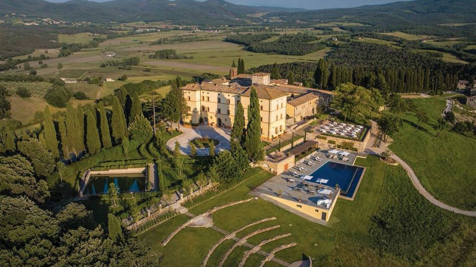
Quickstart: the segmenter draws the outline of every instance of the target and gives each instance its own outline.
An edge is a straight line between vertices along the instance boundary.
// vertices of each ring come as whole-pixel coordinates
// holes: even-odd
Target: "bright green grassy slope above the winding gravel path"
[[[430,118],[417,129],[413,113],[406,113],[404,124],[393,137],[390,149],[415,171],[425,189],[448,205],[476,210],[474,157],[476,138],[444,131],[437,138],[433,125],[445,107],[442,97],[414,99]]]

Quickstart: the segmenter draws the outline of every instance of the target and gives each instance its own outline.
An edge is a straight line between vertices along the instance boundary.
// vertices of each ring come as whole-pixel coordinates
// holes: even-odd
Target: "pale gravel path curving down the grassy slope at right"
[[[448,103],[448,102],[447,102]],[[452,103],[451,103],[452,105]],[[377,123],[375,121],[372,121],[372,131],[374,129],[376,129],[377,127]],[[375,130],[376,131],[376,130]],[[367,147],[365,149],[365,152],[369,153],[369,154],[373,154],[373,155],[379,155],[380,153],[382,153],[382,151],[385,151],[387,148],[387,144],[385,142],[382,142],[381,143],[381,146],[380,147],[372,147],[372,144],[373,144],[373,140],[374,140],[374,137],[370,137],[370,140],[367,144]],[[410,179],[412,181],[412,184],[413,186],[417,189],[418,193],[420,193],[421,195],[423,195],[426,199],[428,199],[428,201],[430,201],[433,205],[436,205],[442,209],[445,209],[445,210],[448,210],[448,211],[451,211],[451,212],[454,212],[454,213],[458,213],[458,214],[463,214],[463,215],[466,215],[466,216],[471,216],[471,217],[476,217],[476,211],[465,211],[465,210],[460,210],[458,208],[455,208],[455,207],[451,207],[450,205],[447,205],[441,201],[439,201],[438,199],[436,199],[434,196],[432,196],[430,193],[428,193],[428,191],[426,191],[426,189],[423,187],[422,183],[420,182],[420,179],[418,179],[417,175],[415,174],[415,172],[413,171],[413,169],[405,162],[403,161],[402,159],[400,159],[395,153],[392,152],[392,156],[391,156],[394,160],[396,160],[402,167],[403,169],[406,170],[406,172],[408,173],[408,176],[410,176]]]

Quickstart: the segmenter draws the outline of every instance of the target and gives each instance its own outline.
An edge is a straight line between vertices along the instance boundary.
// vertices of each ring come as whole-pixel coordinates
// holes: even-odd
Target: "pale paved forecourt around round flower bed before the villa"
[[[179,142],[180,144],[180,153],[183,155],[190,155],[190,146],[188,142],[192,141],[196,138],[207,137],[211,139],[216,139],[220,142],[217,146],[215,146],[215,153],[218,153],[222,150],[230,150],[230,130],[223,129],[223,128],[215,128],[206,125],[200,125],[196,128],[185,128],[181,127],[183,134],[170,139],[167,142],[167,147],[174,151],[175,149],[175,142]],[[210,155],[210,149],[206,148],[198,148],[197,147],[197,155],[198,156],[208,156]]]

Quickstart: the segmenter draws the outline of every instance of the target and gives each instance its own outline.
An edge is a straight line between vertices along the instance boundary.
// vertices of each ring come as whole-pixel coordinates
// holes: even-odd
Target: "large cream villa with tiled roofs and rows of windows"
[[[289,85],[285,79],[271,80],[269,73],[237,75],[237,68],[231,68],[230,73],[231,80],[222,77],[181,88],[190,112],[184,119],[186,123],[231,128],[238,102],[244,108],[247,123],[254,86],[260,102],[261,137],[269,140],[285,132],[287,116],[300,121],[314,115],[319,106],[327,107],[332,97],[330,91]]]

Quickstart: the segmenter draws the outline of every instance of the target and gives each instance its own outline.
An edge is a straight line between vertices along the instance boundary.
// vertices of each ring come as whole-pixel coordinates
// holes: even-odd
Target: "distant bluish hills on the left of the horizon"
[[[50,17],[68,21],[98,23],[133,21],[171,21],[175,24],[246,24],[259,22],[247,15],[257,12],[282,12],[302,9],[251,7],[223,0],[113,0],[92,2],[71,0],[52,3],[43,0],[2,0],[0,12]]]

